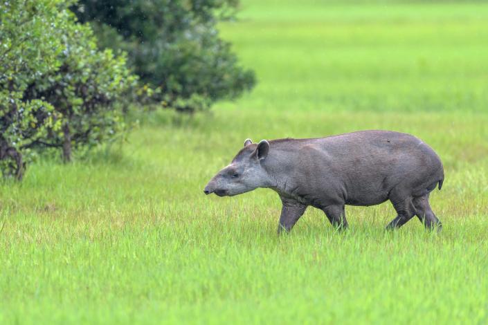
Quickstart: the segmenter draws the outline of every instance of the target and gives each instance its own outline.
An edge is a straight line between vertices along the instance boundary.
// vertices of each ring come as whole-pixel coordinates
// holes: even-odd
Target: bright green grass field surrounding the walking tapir
[[[488,5],[242,1],[222,24],[257,88],[129,143],[0,185],[0,323],[488,323]],[[205,196],[245,138],[413,133],[441,156],[417,219],[309,208],[276,236],[271,190]]]

